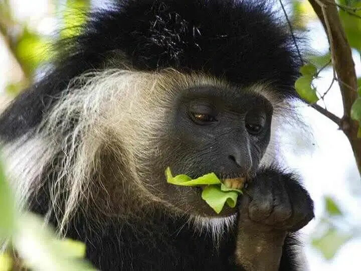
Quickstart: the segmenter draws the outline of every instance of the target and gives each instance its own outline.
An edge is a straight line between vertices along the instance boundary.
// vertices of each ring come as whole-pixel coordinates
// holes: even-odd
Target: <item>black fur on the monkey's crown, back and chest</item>
[[[72,78],[114,67],[119,56],[138,70],[203,71],[241,86],[271,82],[275,94],[296,96],[293,83],[299,63],[293,41],[263,1],[121,1],[111,11],[90,14],[82,33],[58,47],[53,70],[19,95],[0,117],[3,142],[32,132]],[[48,176],[56,174],[51,164],[44,172],[47,183],[30,203],[30,209],[40,214],[50,206]],[[293,182],[291,176],[284,178]],[[126,222],[99,214],[89,218],[93,217],[89,213],[74,217],[67,236],[85,241],[87,257],[103,271],[237,269],[232,260],[236,228],[215,247],[211,234],[195,233],[186,223],[188,217],[157,209],[146,219]],[[94,226],[100,220],[105,221],[101,228]],[[58,226],[55,217],[51,222]],[[293,235],[286,238],[280,271],[296,270],[295,240]]]

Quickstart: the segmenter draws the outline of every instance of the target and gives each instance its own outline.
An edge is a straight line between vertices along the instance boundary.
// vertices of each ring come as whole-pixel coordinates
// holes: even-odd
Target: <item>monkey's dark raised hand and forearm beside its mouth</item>
[[[313,201],[294,176],[263,170],[243,189],[235,259],[247,271],[279,269],[288,232],[313,217]]]

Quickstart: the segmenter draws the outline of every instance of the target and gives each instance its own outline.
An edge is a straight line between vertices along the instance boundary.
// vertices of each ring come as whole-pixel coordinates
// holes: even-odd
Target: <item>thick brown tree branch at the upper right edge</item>
[[[346,40],[334,0],[309,0],[328,37],[332,66],[337,74],[343,102],[340,128],[348,138],[358,171],[361,174],[361,139],[357,138],[358,123],[350,118],[351,106],[357,98],[356,73],[350,46]]]

